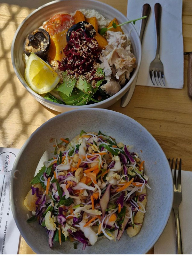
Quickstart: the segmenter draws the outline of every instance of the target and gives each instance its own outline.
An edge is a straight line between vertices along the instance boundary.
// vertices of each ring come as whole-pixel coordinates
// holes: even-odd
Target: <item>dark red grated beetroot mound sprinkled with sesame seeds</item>
[[[100,51],[97,40],[88,37],[81,28],[71,32],[70,40],[63,52],[66,58],[62,62],[58,61],[59,69],[62,71],[68,69],[73,75],[75,73],[83,75],[99,62]]]

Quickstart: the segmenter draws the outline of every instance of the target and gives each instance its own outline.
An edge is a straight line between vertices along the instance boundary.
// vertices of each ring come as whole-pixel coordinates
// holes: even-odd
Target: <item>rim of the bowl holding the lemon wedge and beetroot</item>
[[[47,4],[44,4],[44,5],[41,5],[40,7],[38,7],[37,9],[35,9],[33,12],[31,12],[22,22],[21,24],[19,25],[19,27],[17,28],[15,34],[14,34],[14,37],[13,37],[13,40],[12,40],[12,46],[11,46],[11,59],[12,59],[12,66],[14,68],[14,71],[15,71],[15,74],[17,75],[17,77],[19,78],[21,84],[23,84],[23,86],[27,89],[27,91],[32,94],[33,97],[37,98],[39,102],[42,103],[42,101],[45,101],[47,104],[49,105],[52,105],[53,107],[63,107],[63,108],[71,108],[71,109],[75,109],[75,108],[79,108],[79,109],[82,109],[82,108],[97,108],[99,107],[101,104],[103,103],[107,103],[113,99],[115,99],[116,97],[118,97],[118,95],[120,95],[121,93],[123,92],[126,92],[128,90],[128,88],[131,86],[133,80],[135,79],[136,75],[138,74],[139,72],[139,68],[140,68],[140,63],[141,63],[141,42],[140,42],[140,38],[139,38],[139,35],[136,31],[136,28],[133,26],[132,23],[129,23],[129,26],[132,26],[131,30],[135,30],[136,34],[137,34],[137,43],[139,44],[139,53],[138,53],[138,64],[137,64],[137,67],[135,68],[134,70],[134,74],[132,75],[131,79],[128,81],[127,84],[125,84],[125,86],[119,91],[117,92],[116,94],[114,94],[113,96],[110,96],[108,99],[105,99],[105,100],[102,100],[100,102],[97,102],[97,103],[93,103],[93,104],[87,104],[87,105],[82,105],[82,106],[73,106],[73,105],[65,105],[65,104],[60,104],[60,103],[56,103],[56,102],[52,102],[50,100],[46,100],[44,97],[42,97],[41,95],[39,95],[38,93],[34,92],[29,86],[28,84],[25,82],[25,80],[20,76],[17,68],[16,68],[16,65],[15,65],[15,60],[14,60],[14,47],[15,47],[15,40],[17,38],[17,35],[20,31],[20,29],[22,28],[23,24],[28,20],[29,17],[31,17],[34,13],[38,12],[39,10],[43,9],[44,7],[48,6],[48,5],[51,5],[51,4],[55,4],[55,3],[58,3],[58,2],[62,2],[62,1],[67,1],[67,0],[55,0],[55,1],[52,1],[52,2],[49,2]],[[72,1],[72,0],[70,0]],[[109,4],[105,4],[103,2],[100,2],[100,1],[96,1],[96,0],[85,0],[87,2],[96,2],[98,3],[99,5],[103,5],[105,7],[109,7],[111,8],[112,10],[118,12],[118,14],[120,14],[121,16],[123,16],[127,21],[129,20],[122,12],[118,11],[116,8],[112,7],[111,5]],[[125,24],[126,26],[127,24]],[[43,103],[42,103],[43,104]],[[44,105],[44,104],[43,104]],[[48,107],[50,108],[50,107]]]

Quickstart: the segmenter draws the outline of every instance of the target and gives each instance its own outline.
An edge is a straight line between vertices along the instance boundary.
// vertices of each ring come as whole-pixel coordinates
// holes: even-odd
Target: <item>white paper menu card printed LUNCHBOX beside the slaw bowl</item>
[[[20,232],[13,219],[9,188],[13,163],[19,149],[0,148],[0,253],[17,254]]]

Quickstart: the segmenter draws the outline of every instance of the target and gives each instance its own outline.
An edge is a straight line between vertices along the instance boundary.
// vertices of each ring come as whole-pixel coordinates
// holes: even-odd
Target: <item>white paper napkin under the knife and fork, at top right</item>
[[[128,0],[127,18],[137,19],[141,15],[143,4],[150,4],[151,12],[142,42],[142,59],[137,78],[137,85],[154,86],[149,77],[149,65],[155,58],[155,21],[154,5],[160,3],[161,34],[160,60],[164,65],[166,87],[183,88],[183,36],[182,36],[182,0]],[[136,21],[135,28],[139,32],[140,21]]]

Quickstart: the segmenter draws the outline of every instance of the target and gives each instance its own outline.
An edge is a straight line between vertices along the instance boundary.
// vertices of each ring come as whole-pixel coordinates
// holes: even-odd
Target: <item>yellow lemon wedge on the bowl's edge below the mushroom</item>
[[[59,83],[60,77],[35,53],[31,53],[25,68],[25,80],[39,94],[50,92]]]

